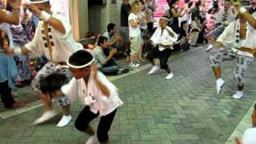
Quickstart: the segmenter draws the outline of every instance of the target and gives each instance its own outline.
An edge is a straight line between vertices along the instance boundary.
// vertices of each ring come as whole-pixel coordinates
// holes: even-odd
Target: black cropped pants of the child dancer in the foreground
[[[106,142],[109,139],[108,131],[110,130],[110,126],[114,120],[114,115],[116,111],[117,110],[114,110],[110,114],[107,114],[100,118],[97,129],[97,137],[99,142]],[[74,126],[78,130],[85,132],[85,130],[89,126],[90,121],[92,121],[94,118],[97,118],[97,116],[98,114],[94,114],[90,111],[90,106],[86,106],[78,115],[78,118],[74,122]]]

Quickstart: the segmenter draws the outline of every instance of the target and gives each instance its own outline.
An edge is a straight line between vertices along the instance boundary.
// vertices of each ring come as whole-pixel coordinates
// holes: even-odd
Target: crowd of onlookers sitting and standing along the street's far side
[[[205,4],[201,1],[186,1],[183,7],[178,7],[179,1],[166,1],[169,9],[165,15],[170,19],[168,26],[178,34],[178,41],[174,43],[173,54],[189,50],[190,46],[206,43],[205,35],[210,31],[206,21]],[[222,6],[214,2],[212,9]],[[86,43],[86,48],[92,51],[98,62],[98,68],[104,74],[122,74],[129,70],[124,69],[114,62],[116,57],[126,57],[129,66],[133,69],[145,62],[144,56],[153,49],[150,37],[154,34],[154,10],[157,3],[154,0],[136,0],[132,4],[123,0],[120,17],[120,31],[116,30],[114,23],[106,26],[106,32],[87,34],[86,38],[94,38]],[[208,26],[208,27],[207,27]]]

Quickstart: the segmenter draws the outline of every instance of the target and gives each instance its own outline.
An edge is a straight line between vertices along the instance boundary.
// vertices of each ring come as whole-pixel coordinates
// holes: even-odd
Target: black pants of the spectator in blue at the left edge
[[[0,82],[0,95],[2,102],[6,108],[10,108],[14,104],[14,98],[11,95],[11,89],[8,86],[8,81]]]

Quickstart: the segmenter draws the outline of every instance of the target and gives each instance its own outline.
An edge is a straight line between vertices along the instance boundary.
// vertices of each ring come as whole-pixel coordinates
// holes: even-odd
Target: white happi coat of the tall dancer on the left
[[[49,34],[52,35],[51,41],[54,42],[54,46],[52,46],[52,61],[66,62],[71,54],[77,50],[82,50],[82,45],[75,42],[70,23],[66,18],[63,18],[62,15],[56,13],[53,13],[52,17],[60,20],[66,30],[66,33],[62,34],[51,26],[51,32],[49,32]],[[31,56],[39,57],[42,54],[45,54],[46,58],[51,60],[49,49],[45,46],[46,40],[44,40],[45,36],[42,33],[42,30],[44,30],[43,22],[40,21],[38,22],[32,42],[27,43],[25,47],[30,51]]]

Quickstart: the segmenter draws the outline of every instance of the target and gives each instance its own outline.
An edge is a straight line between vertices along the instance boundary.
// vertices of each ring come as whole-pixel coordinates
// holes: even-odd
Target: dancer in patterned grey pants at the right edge
[[[224,81],[221,76],[220,64],[225,61],[237,59],[237,66],[234,70],[234,78],[238,86],[238,91],[233,98],[242,98],[244,87],[244,74],[248,70],[256,54],[256,20],[247,10],[241,6],[240,2],[233,2],[238,9],[238,19],[231,22],[229,26],[218,37],[216,46],[226,46],[230,49],[221,49],[216,54],[210,56],[210,66],[213,67],[216,78],[217,94],[222,90]],[[246,5],[246,3],[244,2]],[[248,3],[247,3],[248,4]]]

